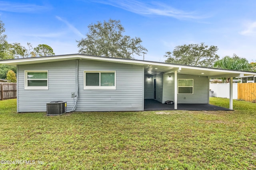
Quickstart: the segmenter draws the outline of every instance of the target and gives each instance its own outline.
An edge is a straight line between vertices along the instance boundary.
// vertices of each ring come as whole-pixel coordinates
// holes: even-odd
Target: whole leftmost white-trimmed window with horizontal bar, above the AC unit
[[[25,89],[48,90],[48,71],[25,71]]]

